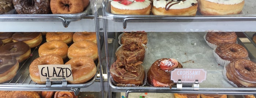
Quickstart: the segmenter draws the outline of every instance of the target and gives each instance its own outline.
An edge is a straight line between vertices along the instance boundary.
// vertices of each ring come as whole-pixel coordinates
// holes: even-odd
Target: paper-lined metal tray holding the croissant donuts
[[[117,33],[120,34],[120,33]],[[146,71],[151,65],[161,58],[174,58],[178,60],[183,68],[203,68],[207,71],[207,78],[202,83],[199,83],[199,90],[194,90],[194,87],[183,87],[182,90],[177,90],[177,87],[152,87],[148,83],[139,87],[122,87],[116,86],[109,77],[109,84],[113,91],[130,91],[130,92],[172,92],[172,93],[220,93],[220,94],[249,94],[255,93],[256,88],[235,88],[229,84],[223,77],[222,65],[219,65],[214,56],[213,49],[210,48],[205,40],[206,32],[148,32],[147,52],[143,61]],[[116,43],[118,39],[115,37]],[[240,39],[238,44],[244,46]],[[119,45],[119,44],[118,44]],[[115,45],[113,45],[115,46]],[[111,49],[110,49],[111,50]],[[115,51],[116,49],[112,49]],[[113,53],[113,52],[112,52]],[[115,53],[115,52],[114,52]],[[249,57],[256,62],[255,57],[248,51]],[[111,59],[115,59],[115,54],[110,54]],[[114,62],[110,62],[109,67]],[[238,91],[239,90],[239,91]],[[253,92],[254,91],[254,92]]]

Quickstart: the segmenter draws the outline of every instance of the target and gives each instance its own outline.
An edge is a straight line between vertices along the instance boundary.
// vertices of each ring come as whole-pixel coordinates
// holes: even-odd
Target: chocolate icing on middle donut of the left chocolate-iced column
[[[0,48],[0,55],[19,57],[29,50],[29,45],[22,41],[5,44]]]

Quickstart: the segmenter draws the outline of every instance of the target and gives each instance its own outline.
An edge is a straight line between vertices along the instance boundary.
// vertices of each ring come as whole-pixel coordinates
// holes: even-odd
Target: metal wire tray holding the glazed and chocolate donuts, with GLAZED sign
[[[102,34],[101,34],[102,37]],[[101,43],[100,45],[103,45],[103,39],[101,39]],[[41,44],[43,44],[44,42],[46,42],[46,38],[45,36],[43,36],[43,41]],[[71,43],[72,44],[72,43]],[[71,44],[68,44],[68,46],[70,46]],[[29,76],[29,65],[30,63],[39,57],[38,55],[38,48],[40,47],[37,46],[35,48],[31,48],[31,55],[28,59],[26,59],[25,61],[22,61],[21,63],[19,63],[19,69],[16,73],[16,75],[14,76],[14,78],[12,78],[11,80],[1,83],[0,87],[4,89],[4,87],[21,87],[21,89],[26,89],[26,87],[28,87],[28,89],[33,89],[34,91],[44,91],[43,89],[45,88],[49,88],[49,90],[51,90],[50,88],[60,88],[59,90],[65,90],[65,89],[69,89],[69,88],[86,88],[89,87],[90,85],[92,85],[96,78],[97,78],[97,74],[99,73],[99,63],[98,60],[95,60],[94,63],[96,64],[96,74],[93,76],[92,79],[90,79],[88,82],[86,83],[80,83],[80,84],[71,84],[71,83],[67,83],[67,84],[63,84],[61,81],[59,82],[51,82],[50,85],[47,84],[37,84],[35,82],[33,82]],[[68,59],[64,60],[64,63],[66,63],[68,61]],[[36,89],[38,88],[38,89]],[[41,88],[41,90],[40,90]],[[72,90],[72,89],[71,89]]]

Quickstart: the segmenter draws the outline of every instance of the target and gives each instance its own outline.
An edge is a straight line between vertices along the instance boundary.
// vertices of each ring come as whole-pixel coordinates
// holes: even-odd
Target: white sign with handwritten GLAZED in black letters
[[[38,65],[41,81],[73,81],[70,65]]]

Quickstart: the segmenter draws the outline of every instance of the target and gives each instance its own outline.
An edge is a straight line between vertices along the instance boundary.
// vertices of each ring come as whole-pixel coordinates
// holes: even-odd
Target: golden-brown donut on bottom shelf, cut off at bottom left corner
[[[0,91],[0,98],[41,98],[36,91]]]

